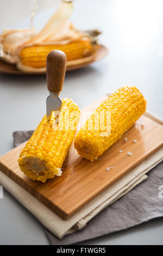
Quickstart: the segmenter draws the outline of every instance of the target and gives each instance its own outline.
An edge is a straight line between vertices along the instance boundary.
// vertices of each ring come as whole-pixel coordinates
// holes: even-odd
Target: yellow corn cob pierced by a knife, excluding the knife
[[[30,179],[45,182],[61,175],[62,163],[72,144],[79,120],[79,108],[71,99],[63,99],[59,124],[55,113],[46,115],[21,151],[18,164]]]

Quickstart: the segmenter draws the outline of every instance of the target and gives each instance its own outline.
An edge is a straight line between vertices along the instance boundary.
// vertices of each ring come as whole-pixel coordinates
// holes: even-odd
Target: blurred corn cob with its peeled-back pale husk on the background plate
[[[66,53],[67,61],[84,57],[93,58],[97,51],[95,31],[79,31],[69,21],[73,11],[72,1],[62,1],[45,27],[35,29],[7,29],[0,35],[6,62],[16,64],[17,69],[30,72],[46,71],[46,57],[52,50]]]

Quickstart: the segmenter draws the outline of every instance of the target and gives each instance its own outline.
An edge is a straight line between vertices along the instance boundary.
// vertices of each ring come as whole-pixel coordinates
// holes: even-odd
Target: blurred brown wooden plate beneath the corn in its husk
[[[102,59],[108,54],[108,50],[105,46],[99,45],[96,54],[93,54],[90,57],[85,57],[81,59],[71,60],[67,62],[66,71],[72,71],[80,68],[84,68],[87,65],[90,65],[97,60]],[[46,71],[43,72],[26,72],[17,70],[15,65],[4,62],[0,59],[0,72],[4,74],[11,75],[45,75]]]

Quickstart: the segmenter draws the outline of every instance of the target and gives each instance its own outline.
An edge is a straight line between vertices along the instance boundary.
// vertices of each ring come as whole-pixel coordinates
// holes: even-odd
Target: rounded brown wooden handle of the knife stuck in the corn
[[[60,93],[65,80],[66,54],[55,50],[48,54],[46,60],[47,88],[51,93]]]

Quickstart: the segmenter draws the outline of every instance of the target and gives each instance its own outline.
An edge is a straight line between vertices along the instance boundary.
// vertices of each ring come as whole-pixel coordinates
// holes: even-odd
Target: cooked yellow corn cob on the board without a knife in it
[[[145,110],[146,100],[136,87],[127,86],[117,90],[97,108],[78,132],[74,141],[78,154],[90,161],[97,159],[133,126]],[[104,119],[101,121],[106,125],[106,116],[100,116],[102,111],[110,114],[109,136],[103,136],[104,130],[99,126],[99,129],[95,127],[98,118]],[[91,122],[92,126],[89,129]]]

